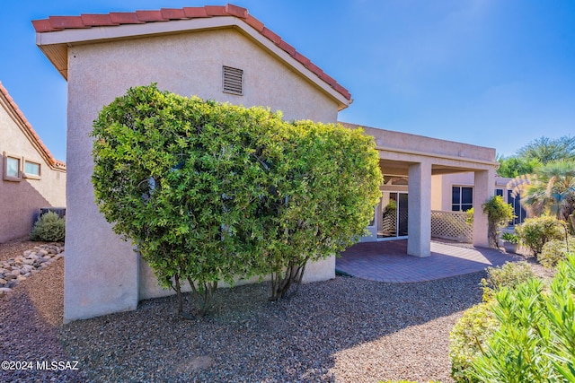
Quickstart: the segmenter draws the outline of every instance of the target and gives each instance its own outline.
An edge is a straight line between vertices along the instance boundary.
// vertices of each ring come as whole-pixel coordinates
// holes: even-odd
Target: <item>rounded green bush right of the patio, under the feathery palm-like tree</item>
[[[525,222],[515,227],[521,243],[530,248],[535,256],[541,253],[548,241],[564,239],[566,230],[565,222],[549,216],[527,218]]]

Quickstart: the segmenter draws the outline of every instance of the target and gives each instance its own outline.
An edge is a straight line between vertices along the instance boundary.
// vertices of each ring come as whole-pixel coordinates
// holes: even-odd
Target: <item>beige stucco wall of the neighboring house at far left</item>
[[[52,170],[0,99],[0,243],[30,234],[42,207],[66,206],[66,172]],[[40,163],[40,179],[4,180],[3,153]]]

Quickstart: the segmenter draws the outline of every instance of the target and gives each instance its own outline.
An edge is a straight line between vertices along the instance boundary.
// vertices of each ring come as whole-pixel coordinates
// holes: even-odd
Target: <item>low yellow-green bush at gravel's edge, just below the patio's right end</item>
[[[518,284],[535,278],[531,266],[522,262],[506,262],[498,267],[487,267],[487,278],[482,279],[483,300],[491,301],[503,287],[514,289]]]

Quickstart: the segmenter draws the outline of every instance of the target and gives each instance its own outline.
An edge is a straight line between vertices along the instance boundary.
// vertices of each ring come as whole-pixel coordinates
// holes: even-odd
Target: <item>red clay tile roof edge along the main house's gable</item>
[[[323,73],[309,58],[296,51],[276,33],[269,30],[262,22],[248,13],[248,10],[234,5],[206,5],[203,7],[184,7],[181,9],[162,8],[159,11],[136,11],[134,13],[82,14],[80,16],[50,16],[48,19],[34,20],[32,25],[36,32],[54,32],[58,30],[85,29],[102,26],[117,26],[125,24],[143,24],[146,22],[169,22],[171,20],[196,19],[218,16],[233,16],[246,22],[276,46],[283,49],[289,56],[295,58],[308,70],[317,75],[333,90],[339,92],[346,100],[351,100],[351,94],[332,77]]]

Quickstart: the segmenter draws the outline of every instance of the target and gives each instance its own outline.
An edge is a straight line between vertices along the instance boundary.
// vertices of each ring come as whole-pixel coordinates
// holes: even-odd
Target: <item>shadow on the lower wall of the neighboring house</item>
[[[2,155],[0,159],[4,163]],[[52,207],[33,186],[37,182],[41,180],[6,181],[4,171],[0,173],[0,243],[30,234],[40,208]]]

